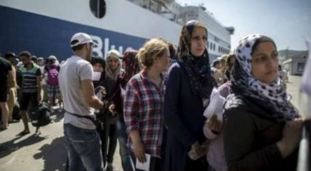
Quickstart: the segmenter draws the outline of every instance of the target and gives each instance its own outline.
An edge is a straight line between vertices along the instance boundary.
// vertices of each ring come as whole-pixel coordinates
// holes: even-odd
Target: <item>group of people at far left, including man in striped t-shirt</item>
[[[47,61],[44,62],[42,57],[37,58],[29,51],[22,51],[18,55],[8,52],[4,55],[4,58],[2,59],[7,60],[11,65],[15,83],[11,88],[7,86],[8,98],[6,102],[9,113],[6,115],[6,112],[3,112],[2,129],[7,129],[9,123],[20,122],[21,118],[24,124],[24,130],[17,134],[17,136],[24,136],[30,133],[28,124],[30,113],[36,110],[39,103],[46,102],[51,107],[54,106],[55,98],[47,99],[45,96],[56,97],[58,102],[61,102],[60,94],[58,93],[58,96],[56,94],[58,90],[57,76],[59,69],[50,72],[50,66],[59,66],[55,56],[48,57]],[[49,87],[42,87],[42,84],[46,84],[46,82]],[[53,84],[53,89],[51,88],[51,83]],[[43,94],[43,100],[41,93]],[[35,133],[40,134],[39,127],[36,128]]]

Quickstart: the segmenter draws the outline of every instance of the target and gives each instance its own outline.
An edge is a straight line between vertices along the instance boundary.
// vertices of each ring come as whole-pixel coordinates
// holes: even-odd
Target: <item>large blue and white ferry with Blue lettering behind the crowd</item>
[[[154,37],[178,45],[189,20],[206,25],[210,61],[230,51],[234,28],[223,27],[203,6],[181,6],[174,0],[2,0],[0,51],[28,50],[61,61],[72,55],[69,40],[77,32],[97,42],[95,56],[106,56],[110,49],[139,49]]]

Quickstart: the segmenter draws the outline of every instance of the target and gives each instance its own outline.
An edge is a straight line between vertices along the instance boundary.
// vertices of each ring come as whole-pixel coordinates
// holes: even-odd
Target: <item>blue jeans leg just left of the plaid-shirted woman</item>
[[[127,134],[126,134],[126,126],[122,119],[117,121],[117,135],[119,140],[119,150],[122,162],[122,168],[126,171],[133,171],[131,153],[129,149],[126,147]],[[135,157],[134,157],[135,158]]]

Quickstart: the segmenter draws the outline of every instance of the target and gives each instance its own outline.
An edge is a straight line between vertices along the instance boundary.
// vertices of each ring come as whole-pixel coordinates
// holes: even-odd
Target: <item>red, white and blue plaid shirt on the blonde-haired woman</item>
[[[126,130],[138,130],[146,153],[161,157],[163,141],[163,106],[166,90],[166,76],[161,75],[161,89],[147,78],[143,70],[128,82],[124,98],[124,121]],[[133,143],[129,137],[127,146],[132,150]]]

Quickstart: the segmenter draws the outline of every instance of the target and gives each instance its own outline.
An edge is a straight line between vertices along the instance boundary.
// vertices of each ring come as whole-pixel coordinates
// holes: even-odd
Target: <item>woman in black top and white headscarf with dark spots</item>
[[[229,170],[295,169],[302,120],[277,76],[274,41],[254,34],[239,42],[224,105]]]

